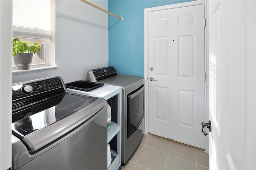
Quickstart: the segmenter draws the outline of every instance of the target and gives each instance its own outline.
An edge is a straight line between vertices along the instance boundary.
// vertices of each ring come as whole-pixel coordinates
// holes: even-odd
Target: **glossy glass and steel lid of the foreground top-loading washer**
[[[12,123],[12,133],[33,152],[90,119],[104,106],[102,99],[65,93],[14,113],[24,118]]]

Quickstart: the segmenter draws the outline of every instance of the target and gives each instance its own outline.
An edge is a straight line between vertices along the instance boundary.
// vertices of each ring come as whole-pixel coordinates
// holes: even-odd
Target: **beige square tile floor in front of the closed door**
[[[122,170],[209,170],[209,154],[164,138],[144,135]]]

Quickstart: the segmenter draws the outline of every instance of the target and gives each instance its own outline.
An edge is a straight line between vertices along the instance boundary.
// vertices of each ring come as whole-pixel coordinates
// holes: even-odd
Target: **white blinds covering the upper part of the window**
[[[51,39],[50,0],[13,0],[13,36]]]

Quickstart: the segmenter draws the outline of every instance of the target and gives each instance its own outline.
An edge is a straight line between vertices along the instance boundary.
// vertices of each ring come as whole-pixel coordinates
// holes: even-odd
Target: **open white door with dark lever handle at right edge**
[[[256,2],[209,4],[210,169],[256,169]]]

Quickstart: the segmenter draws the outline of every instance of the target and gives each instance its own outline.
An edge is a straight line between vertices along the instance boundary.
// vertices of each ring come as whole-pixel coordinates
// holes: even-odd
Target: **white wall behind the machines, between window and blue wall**
[[[56,9],[60,11],[66,2],[56,1]],[[108,0],[90,2],[108,10]],[[108,66],[108,14],[80,0],[71,0],[56,16],[55,50],[58,69],[13,74],[12,82],[59,75],[69,83],[85,80],[89,69]]]

